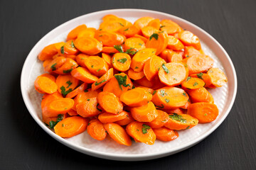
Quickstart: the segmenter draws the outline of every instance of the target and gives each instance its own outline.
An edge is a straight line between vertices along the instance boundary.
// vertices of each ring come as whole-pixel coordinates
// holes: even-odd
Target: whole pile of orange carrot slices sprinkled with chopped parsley
[[[99,29],[78,26],[38,55],[48,73],[35,89],[44,94],[43,122],[57,135],[87,130],[95,140],[153,145],[217,118],[207,88],[228,80],[196,35],[168,19],[102,20]]]

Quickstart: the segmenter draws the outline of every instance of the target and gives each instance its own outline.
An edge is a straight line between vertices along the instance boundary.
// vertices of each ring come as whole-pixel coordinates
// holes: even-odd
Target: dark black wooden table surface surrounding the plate
[[[0,169],[256,169],[256,1],[0,1]],[[65,21],[111,8],[144,8],[195,23],[230,55],[238,94],[228,117],[205,140],[146,162],[90,157],[44,132],[23,103],[20,75],[33,45]]]

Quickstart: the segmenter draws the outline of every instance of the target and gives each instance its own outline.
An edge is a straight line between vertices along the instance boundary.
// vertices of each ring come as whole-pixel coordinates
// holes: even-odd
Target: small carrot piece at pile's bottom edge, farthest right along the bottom
[[[169,128],[162,127],[158,129],[153,129],[157,140],[164,142],[169,142],[171,140],[176,140],[178,138],[178,132],[175,130],[170,130]]]

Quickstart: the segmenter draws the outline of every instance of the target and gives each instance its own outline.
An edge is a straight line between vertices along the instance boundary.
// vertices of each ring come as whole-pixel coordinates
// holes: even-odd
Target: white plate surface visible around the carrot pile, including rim
[[[98,28],[102,16],[107,14],[114,14],[116,16],[125,18],[131,22],[137,20],[142,16],[152,16],[159,19],[171,19],[178,23],[182,28],[191,30],[191,32],[198,35],[201,40],[203,50],[206,55],[215,60],[214,67],[222,69],[228,77],[228,84],[217,89],[211,89],[210,93],[213,94],[215,104],[218,106],[220,115],[212,123],[200,124],[196,127],[179,131],[178,139],[171,142],[161,142],[156,140],[155,144],[145,145],[143,143],[133,143],[132,147],[126,147],[119,145],[110,137],[107,137],[104,141],[97,141],[92,139],[87,132],[83,132],[80,135],[71,137],[70,139],[63,139],[46,127],[41,118],[41,94],[38,94],[34,89],[33,82],[38,75],[43,74],[42,62],[38,60],[37,55],[43,47],[53,42],[65,41],[66,35],[70,30],[76,26],[85,23],[88,27]],[[221,47],[221,45],[211,37],[206,31],[198,28],[181,18],[169,15],[167,13],[161,13],[157,11],[149,11],[142,9],[114,9],[107,11],[99,11],[95,13],[89,13],[84,16],[80,16],[61,26],[58,26],[54,30],[45,35],[36,45],[33,47],[26,62],[23,65],[21,73],[21,92],[23,100],[26,103],[29,113],[38,125],[43,128],[50,136],[55,140],[63,143],[64,145],[73,148],[79,152],[92,155],[94,157],[101,157],[104,159],[123,160],[123,161],[139,161],[147,159],[156,159],[159,157],[165,157],[170,154],[181,152],[188,147],[196,145],[196,143],[203,140],[210,135],[213,130],[218,128],[220,123],[227,117],[230,109],[233,106],[235,95],[237,91],[237,77],[235,74],[235,68],[230,60],[227,52]]]

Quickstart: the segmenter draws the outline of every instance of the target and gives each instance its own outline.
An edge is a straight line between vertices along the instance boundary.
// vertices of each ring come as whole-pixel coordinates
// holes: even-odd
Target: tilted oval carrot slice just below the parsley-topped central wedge
[[[108,113],[118,114],[122,112],[123,105],[117,96],[114,94],[102,91],[97,96],[97,101],[100,106]]]

